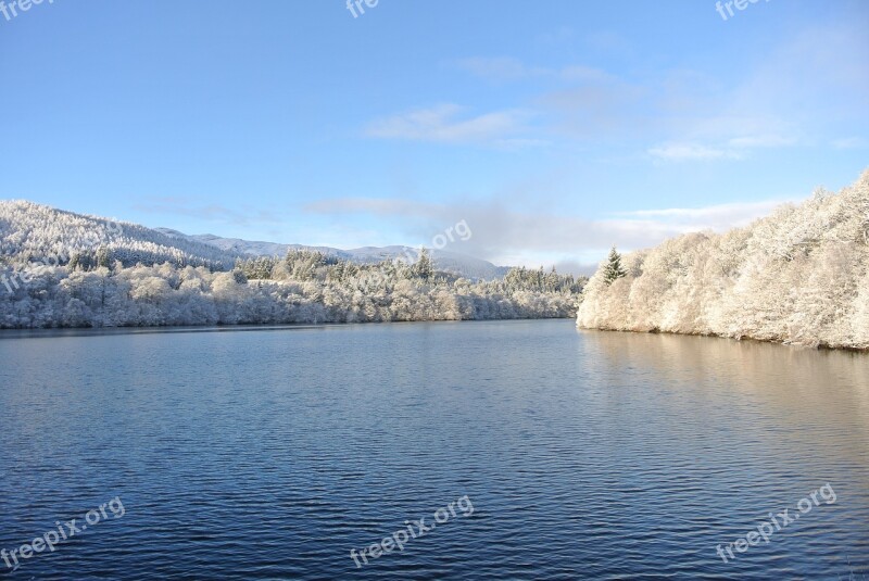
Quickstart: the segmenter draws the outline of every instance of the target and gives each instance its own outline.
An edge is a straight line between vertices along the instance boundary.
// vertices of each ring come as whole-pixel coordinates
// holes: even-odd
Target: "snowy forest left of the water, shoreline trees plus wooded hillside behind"
[[[470,280],[427,251],[376,264],[306,250],[232,258],[29,202],[0,206],[0,328],[569,318],[585,281],[542,268]]]

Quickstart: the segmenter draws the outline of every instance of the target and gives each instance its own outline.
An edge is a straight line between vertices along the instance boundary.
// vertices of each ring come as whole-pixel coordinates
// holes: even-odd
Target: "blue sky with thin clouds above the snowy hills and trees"
[[[731,8],[43,0],[0,13],[0,198],[567,267],[854,181],[869,3]]]

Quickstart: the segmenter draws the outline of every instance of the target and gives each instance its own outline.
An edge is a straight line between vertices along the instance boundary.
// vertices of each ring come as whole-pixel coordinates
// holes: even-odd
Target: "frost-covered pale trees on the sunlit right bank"
[[[869,172],[748,227],[616,257],[585,287],[578,326],[869,349]]]

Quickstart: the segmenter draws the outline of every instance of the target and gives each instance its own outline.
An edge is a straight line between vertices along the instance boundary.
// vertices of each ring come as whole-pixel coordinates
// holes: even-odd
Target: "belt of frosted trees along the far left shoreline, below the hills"
[[[317,252],[205,266],[43,265],[0,269],[0,328],[363,323],[572,317],[577,282],[557,290],[470,281],[413,264],[360,265]],[[549,275],[547,275],[549,276]]]

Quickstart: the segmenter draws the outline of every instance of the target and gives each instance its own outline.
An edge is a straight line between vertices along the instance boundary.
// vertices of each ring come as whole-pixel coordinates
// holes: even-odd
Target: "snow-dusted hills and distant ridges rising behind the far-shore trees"
[[[289,250],[314,250],[360,264],[417,256],[410,247],[365,247],[341,250],[329,247],[255,242],[214,235],[190,236],[168,228],[147,228],[56,210],[23,200],[0,201],[0,262],[98,261],[100,249],[125,266],[169,262],[176,265],[229,269],[236,260],[284,256]],[[434,267],[470,279],[503,278],[508,268],[443,250],[431,250]]]

